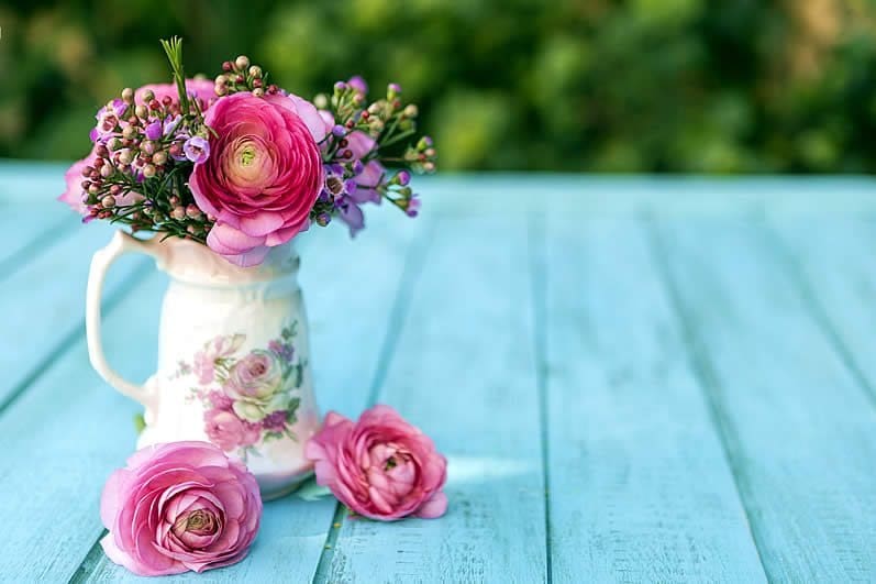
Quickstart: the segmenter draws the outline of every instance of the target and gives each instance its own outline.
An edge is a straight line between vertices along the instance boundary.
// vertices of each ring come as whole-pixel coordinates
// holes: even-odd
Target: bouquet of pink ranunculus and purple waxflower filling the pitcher
[[[353,77],[311,102],[245,56],[212,81],[188,79],[181,42],[163,46],[173,84],[122,90],[67,172],[60,200],[84,221],[195,241],[247,267],[313,223],[340,219],[355,235],[369,202],[417,217],[411,172],[434,172],[435,148],[397,84],[369,102]]]

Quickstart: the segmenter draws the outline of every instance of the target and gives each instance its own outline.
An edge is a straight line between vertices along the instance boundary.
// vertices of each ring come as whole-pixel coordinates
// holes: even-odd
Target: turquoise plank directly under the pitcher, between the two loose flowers
[[[323,410],[357,415],[364,407],[372,377],[379,366],[379,340],[391,320],[410,241],[424,233],[422,222],[404,221],[403,217],[391,213],[391,209],[377,210],[373,216],[372,231],[363,232],[356,241],[334,225],[324,232],[314,230],[306,234],[300,244],[314,387]],[[121,462],[119,459],[117,465]],[[99,492],[99,487],[92,491],[96,488]],[[331,497],[308,503],[292,496],[268,503],[260,533],[243,562],[207,576],[182,574],[170,581],[203,582],[204,577],[211,582],[310,581],[334,514],[335,500]],[[99,525],[96,509],[89,520]],[[76,580],[141,579],[96,549],[77,572]]]

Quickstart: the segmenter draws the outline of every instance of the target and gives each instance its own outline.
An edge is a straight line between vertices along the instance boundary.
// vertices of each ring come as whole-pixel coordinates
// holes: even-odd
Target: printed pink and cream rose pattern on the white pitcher
[[[220,335],[204,343],[192,361],[180,361],[175,377],[197,383],[188,400],[204,406],[207,437],[225,452],[246,460],[256,444],[288,438],[301,403],[295,393],[306,363],[296,362],[296,324],[282,329],[267,349],[241,354],[246,335]]]

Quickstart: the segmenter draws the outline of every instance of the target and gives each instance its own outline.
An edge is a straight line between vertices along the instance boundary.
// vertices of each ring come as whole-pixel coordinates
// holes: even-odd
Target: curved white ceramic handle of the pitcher
[[[160,260],[156,240],[141,241],[122,231],[117,231],[110,243],[102,250],[95,252],[91,258],[91,268],[88,272],[88,290],[86,293],[86,338],[88,339],[88,359],[95,371],[119,393],[147,408],[153,406],[154,395],[146,386],[131,383],[110,367],[103,354],[103,344],[100,339],[100,302],[103,293],[103,278],[107,269],[119,257],[126,253],[145,253]]]

